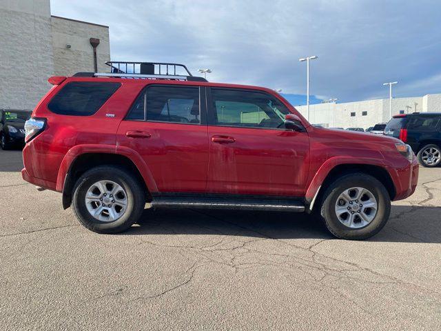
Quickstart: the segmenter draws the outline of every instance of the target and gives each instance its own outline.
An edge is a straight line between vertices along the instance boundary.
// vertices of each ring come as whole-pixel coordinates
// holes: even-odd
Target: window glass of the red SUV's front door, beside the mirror
[[[212,88],[214,125],[282,128],[289,110],[262,92]]]

